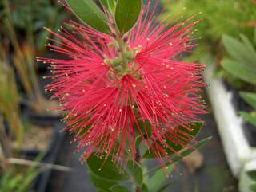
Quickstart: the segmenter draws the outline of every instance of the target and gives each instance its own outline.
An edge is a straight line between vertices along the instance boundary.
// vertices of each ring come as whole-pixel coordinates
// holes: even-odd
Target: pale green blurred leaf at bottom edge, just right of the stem
[[[169,165],[167,167],[169,172],[172,172],[174,167],[173,165]],[[167,174],[163,169],[156,170],[150,178],[150,182],[147,183],[147,186],[149,186],[150,192],[161,190],[161,186],[166,182]]]

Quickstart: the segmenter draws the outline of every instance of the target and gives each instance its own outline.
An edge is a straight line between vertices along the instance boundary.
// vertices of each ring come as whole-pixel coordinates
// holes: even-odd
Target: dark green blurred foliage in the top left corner
[[[1,31],[9,31],[5,23],[9,20],[14,32],[18,32],[16,35],[22,37],[23,42],[29,40],[36,53],[46,51],[46,36],[50,37],[50,33],[42,28],[58,29],[67,14],[57,0],[3,0],[0,6]]]

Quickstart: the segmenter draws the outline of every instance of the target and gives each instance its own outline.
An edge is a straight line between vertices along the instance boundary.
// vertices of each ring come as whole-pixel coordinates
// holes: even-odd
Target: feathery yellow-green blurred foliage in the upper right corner
[[[198,55],[194,54],[186,60],[203,61],[207,54],[214,56],[216,75],[222,76],[236,88],[243,88],[244,84],[230,72],[221,67],[222,57],[225,57],[225,48],[222,44],[223,34],[238,38],[243,33],[252,44],[256,36],[256,2],[254,0],[162,0],[166,4],[166,14],[163,18],[173,16],[175,10],[187,9],[184,17],[190,17],[202,12],[202,22],[195,26],[195,37],[201,38],[198,46]],[[210,57],[208,57],[210,58]],[[209,65],[212,60],[206,61]]]

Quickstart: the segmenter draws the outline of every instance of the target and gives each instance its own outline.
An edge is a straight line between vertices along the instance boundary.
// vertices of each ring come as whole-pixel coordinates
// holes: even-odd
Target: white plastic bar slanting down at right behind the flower
[[[244,134],[242,117],[232,104],[232,92],[228,91],[219,77],[213,75],[213,67],[207,66],[205,80],[210,84],[206,91],[210,98],[226,159],[235,177],[239,178],[246,163],[256,159],[255,147],[251,147]]]

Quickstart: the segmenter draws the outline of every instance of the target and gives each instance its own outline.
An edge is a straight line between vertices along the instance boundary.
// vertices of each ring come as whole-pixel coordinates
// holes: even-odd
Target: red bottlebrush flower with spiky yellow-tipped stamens
[[[85,151],[82,159],[95,152],[118,163],[135,160],[136,137],[161,159],[166,148],[176,152],[166,139],[181,145],[188,139],[177,127],[205,113],[198,96],[204,66],[175,59],[195,46],[190,34],[197,22],[190,21],[168,27],[156,22],[148,5],[117,41],[76,22],[66,24],[72,33],[51,32],[61,41],[48,46],[66,59],[38,60],[51,64],[54,82],[47,89],[66,112],[67,129]]]

